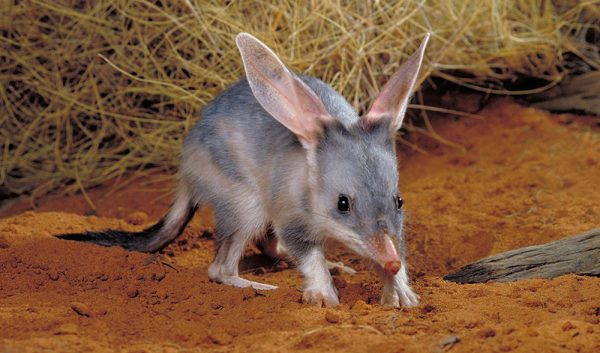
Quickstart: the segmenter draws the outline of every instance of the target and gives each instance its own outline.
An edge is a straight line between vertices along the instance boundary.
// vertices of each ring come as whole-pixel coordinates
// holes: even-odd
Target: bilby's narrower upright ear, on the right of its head
[[[363,117],[365,125],[391,119],[390,130],[396,132],[402,126],[406,107],[419,76],[423,54],[430,34],[427,33],[419,49],[402,65],[385,84],[369,112]]]

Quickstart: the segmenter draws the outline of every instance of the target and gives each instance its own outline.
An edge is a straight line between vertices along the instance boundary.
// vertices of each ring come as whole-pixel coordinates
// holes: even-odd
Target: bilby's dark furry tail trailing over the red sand
[[[180,235],[198,209],[189,195],[180,192],[167,216],[140,232],[107,229],[100,232],[61,234],[57,238],[83,241],[101,246],[120,246],[126,250],[154,252]]]

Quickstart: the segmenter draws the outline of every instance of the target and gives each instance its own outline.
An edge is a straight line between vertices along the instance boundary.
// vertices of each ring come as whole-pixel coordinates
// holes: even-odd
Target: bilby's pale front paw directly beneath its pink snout
[[[400,307],[400,303],[407,308],[419,305],[419,296],[410,288],[405,261],[395,275],[386,273],[382,268],[378,272],[383,281],[381,304],[396,308]]]

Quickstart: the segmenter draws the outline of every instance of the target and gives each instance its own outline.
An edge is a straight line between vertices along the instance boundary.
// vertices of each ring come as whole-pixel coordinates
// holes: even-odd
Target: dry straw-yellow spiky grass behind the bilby
[[[222,5],[222,3],[229,3]],[[199,110],[243,74],[251,32],[357,109],[433,34],[423,79],[489,92],[529,75],[550,85],[572,53],[598,69],[596,1],[2,1],[0,183],[84,190],[132,169],[175,167]],[[542,89],[542,88],[540,88]],[[537,90],[533,90],[537,91]],[[526,93],[526,92],[521,92]]]

